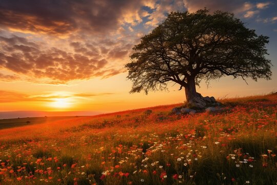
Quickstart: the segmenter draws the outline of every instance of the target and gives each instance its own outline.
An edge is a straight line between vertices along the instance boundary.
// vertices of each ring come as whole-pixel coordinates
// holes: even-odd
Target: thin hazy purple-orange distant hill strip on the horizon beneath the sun
[[[4,111],[0,112],[0,119],[26,118],[26,117],[52,117],[52,116],[93,116],[101,114],[92,111],[68,111],[68,112],[47,112],[47,111]]]

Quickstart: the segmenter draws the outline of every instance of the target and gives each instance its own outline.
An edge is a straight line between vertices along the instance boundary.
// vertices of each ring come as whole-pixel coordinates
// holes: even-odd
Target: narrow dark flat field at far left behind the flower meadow
[[[77,116],[77,117],[80,117],[80,116]],[[47,122],[55,122],[59,120],[68,120],[72,118],[76,118],[76,116],[0,119],[0,130],[4,128],[12,128],[16,126],[41,124],[41,123],[47,123]]]

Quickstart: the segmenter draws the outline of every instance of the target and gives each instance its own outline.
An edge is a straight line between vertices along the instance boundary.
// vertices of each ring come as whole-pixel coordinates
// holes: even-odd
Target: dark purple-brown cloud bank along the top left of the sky
[[[125,10],[141,4],[139,0],[1,0],[0,25],[47,34],[106,33],[120,25]]]

